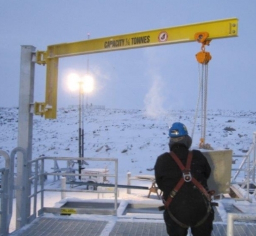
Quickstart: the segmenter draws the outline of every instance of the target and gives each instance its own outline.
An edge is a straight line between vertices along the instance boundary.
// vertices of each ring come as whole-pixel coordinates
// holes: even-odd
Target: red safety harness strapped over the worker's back
[[[185,182],[192,182],[201,192],[202,194],[206,197],[207,201],[208,201],[208,209],[207,209],[207,213],[206,215],[193,227],[197,227],[199,225],[201,225],[207,218],[208,215],[212,209],[211,207],[211,194],[209,194],[206,189],[203,187],[203,185],[198,182],[192,175],[190,172],[190,167],[191,167],[191,162],[192,162],[192,151],[189,151],[188,154],[188,159],[187,159],[187,163],[186,163],[186,167],[184,167],[184,165],[182,164],[182,162],[180,161],[180,159],[177,157],[177,155],[174,152],[170,152],[169,153],[170,156],[173,158],[173,160],[177,163],[177,165],[179,166],[179,168],[182,171],[182,175],[183,177],[181,177],[181,179],[179,180],[179,182],[176,184],[176,186],[172,189],[172,191],[170,192],[168,198],[166,201],[164,202],[164,208],[168,211],[170,217],[180,226],[184,227],[184,228],[189,228],[191,226],[188,226],[186,224],[183,224],[182,222],[180,222],[179,220],[177,220],[172,213],[169,210],[169,205],[172,202],[173,198],[176,196],[177,192],[179,191],[179,189],[182,187],[182,185]],[[163,207],[159,207],[160,210],[164,209]]]

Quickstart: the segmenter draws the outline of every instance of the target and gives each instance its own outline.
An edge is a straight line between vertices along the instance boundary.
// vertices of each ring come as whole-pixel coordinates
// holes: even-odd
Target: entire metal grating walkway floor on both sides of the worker
[[[214,223],[212,236],[225,236],[226,224]],[[234,224],[234,236],[255,236],[256,224]],[[11,236],[168,236],[161,220],[90,220],[39,217]]]

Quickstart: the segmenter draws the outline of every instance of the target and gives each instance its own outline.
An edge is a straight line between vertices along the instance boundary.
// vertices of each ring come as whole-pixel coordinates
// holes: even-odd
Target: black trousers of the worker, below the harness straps
[[[163,212],[166,231],[169,236],[187,236],[188,228],[183,228],[171,219],[168,211]],[[198,227],[191,227],[192,236],[211,236],[213,230],[214,210],[212,209],[208,218]]]

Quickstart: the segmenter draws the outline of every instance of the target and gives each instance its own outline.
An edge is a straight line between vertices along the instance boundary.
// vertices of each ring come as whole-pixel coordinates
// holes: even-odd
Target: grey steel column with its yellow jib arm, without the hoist
[[[46,51],[35,52],[33,46],[21,47],[20,94],[18,147],[24,152],[17,158],[17,211],[16,229],[26,224],[30,216],[31,183],[24,165],[32,160],[32,118],[41,115],[45,118],[57,117],[57,85],[59,58],[77,55],[135,49],[150,46],[162,46],[176,43],[201,42],[201,35],[208,33],[207,41],[238,36],[238,19],[230,18],[184,25],[178,27],[155,29],[124,35],[90,39],[74,43],[48,46]],[[33,102],[35,63],[46,65],[45,102]]]

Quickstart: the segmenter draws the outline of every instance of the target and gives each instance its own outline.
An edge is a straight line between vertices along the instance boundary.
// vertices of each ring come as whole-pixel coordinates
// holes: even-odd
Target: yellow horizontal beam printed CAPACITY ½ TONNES
[[[50,45],[47,49],[47,58],[62,58],[115,50],[192,42],[195,41],[194,34],[201,31],[209,33],[208,39],[238,36],[238,19],[229,18],[72,43]]]

